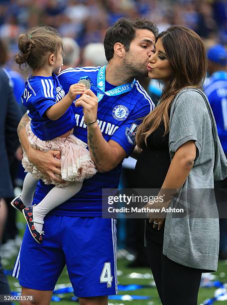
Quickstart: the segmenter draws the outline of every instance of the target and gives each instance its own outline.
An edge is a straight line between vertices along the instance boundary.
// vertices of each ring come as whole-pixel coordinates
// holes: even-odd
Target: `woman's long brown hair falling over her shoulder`
[[[165,134],[169,131],[169,108],[175,95],[185,87],[201,88],[206,77],[207,55],[204,43],[193,30],[174,25],[161,32],[161,39],[172,74],[165,84],[160,104],[145,117],[136,133],[139,148],[147,137],[164,123]]]

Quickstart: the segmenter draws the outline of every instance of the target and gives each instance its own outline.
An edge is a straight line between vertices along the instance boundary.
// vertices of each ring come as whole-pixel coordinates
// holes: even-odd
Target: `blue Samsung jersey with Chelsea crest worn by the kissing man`
[[[69,87],[77,83],[83,76],[90,76],[92,81],[97,84],[98,71],[99,67],[69,68],[62,71],[58,75],[58,79],[67,93]],[[106,91],[113,88],[115,88],[113,85],[106,82]],[[97,95],[97,92],[94,91],[94,93]],[[115,141],[129,155],[135,146],[135,129],[141,123],[139,119],[145,117],[153,109],[153,102],[138,81],[128,93],[113,97],[105,95],[98,104],[98,123],[104,139],[107,142]],[[73,110],[76,118],[74,135],[88,143],[83,109],[74,107]],[[121,163],[109,172],[98,172],[92,178],[84,180],[79,193],[50,213],[81,217],[102,216],[102,189],[118,187],[120,170]],[[40,202],[51,187],[39,181],[33,203]]]

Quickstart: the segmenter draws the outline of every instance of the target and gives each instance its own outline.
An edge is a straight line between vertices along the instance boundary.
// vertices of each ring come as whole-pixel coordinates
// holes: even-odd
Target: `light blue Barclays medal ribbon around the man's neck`
[[[94,82],[91,80],[89,76],[81,77],[80,79],[87,79],[91,83],[91,87],[97,92],[98,102],[102,100],[104,95],[107,96],[115,96],[120,95],[126,92],[131,91],[135,84],[135,79],[131,83],[127,83],[124,85],[120,85],[115,87],[114,89],[111,89],[109,91],[105,91],[105,81],[106,81],[106,66],[103,66],[99,69],[98,75],[97,75],[97,85],[94,84]]]

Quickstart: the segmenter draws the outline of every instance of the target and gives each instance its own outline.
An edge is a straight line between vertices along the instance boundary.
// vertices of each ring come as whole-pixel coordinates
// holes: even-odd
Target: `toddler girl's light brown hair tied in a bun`
[[[41,68],[50,54],[62,50],[64,46],[58,31],[51,26],[35,26],[26,33],[20,34],[18,39],[19,52],[15,61],[21,65],[29,65],[32,70]]]

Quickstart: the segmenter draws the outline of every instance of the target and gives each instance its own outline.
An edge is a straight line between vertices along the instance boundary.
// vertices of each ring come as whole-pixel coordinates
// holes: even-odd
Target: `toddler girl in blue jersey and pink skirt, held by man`
[[[23,212],[32,237],[40,244],[45,215],[78,193],[83,180],[92,177],[97,169],[87,145],[72,134],[75,126],[72,102],[86,88],[84,84],[74,84],[65,95],[56,76],[63,65],[64,52],[58,32],[49,26],[33,27],[19,36],[18,48],[16,63],[19,67],[25,63],[32,70],[21,97],[30,118],[26,126],[29,143],[40,151],[61,152],[63,184],[48,180],[23,152],[22,164],[28,173],[22,193],[11,202]],[[31,206],[38,179],[55,187],[38,205]]]

